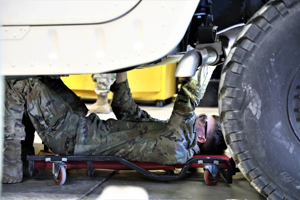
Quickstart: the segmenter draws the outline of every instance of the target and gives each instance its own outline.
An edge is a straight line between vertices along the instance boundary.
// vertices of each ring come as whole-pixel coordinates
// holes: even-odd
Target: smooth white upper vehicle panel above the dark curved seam
[[[1,0],[1,25],[91,24],[116,19],[140,0]]]

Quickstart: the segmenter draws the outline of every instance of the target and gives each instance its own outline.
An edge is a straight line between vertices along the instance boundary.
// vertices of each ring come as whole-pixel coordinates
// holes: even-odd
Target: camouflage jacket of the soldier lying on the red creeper
[[[116,119],[100,120],[94,113],[80,116],[75,155],[113,155],[161,164],[185,163],[200,150],[194,110],[214,70],[201,67],[186,78],[168,121],[152,118],[134,103],[128,81],[114,83],[112,109]]]

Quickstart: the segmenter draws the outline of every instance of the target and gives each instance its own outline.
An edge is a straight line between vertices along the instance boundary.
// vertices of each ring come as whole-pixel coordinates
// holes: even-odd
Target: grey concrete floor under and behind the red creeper
[[[140,104],[152,117],[167,119],[173,104],[155,107],[154,104]],[[217,108],[196,108],[196,113],[218,115]],[[101,119],[115,118],[113,113],[99,114]],[[43,148],[35,137],[36,154]],[[229,152],[226,152],[229,155]],[[155,171],[154,171],[155,172]],[[164,173],[157,171],[155,173]],[[109,186],[118,186],[112,188]],[[133,188],[124,187],[131,186]],[[52,179],[51,170],[41,170],[36,177],[29,177],[24,171],[23,180],[17,184],[2,184],[1,199],[265,199],[244,178],[241,172],[233,176],[233,183],[227,184],[221,177],[215,186],[208,186],[203,179],[203,170],[187,173],[176,181],[155,181],[135,171],[96,169],[88,177],[86,169],[67,170],[66,182],[59,186]],[[139,191],[142,188],[142,192]],[[103,192],[105,191],[105,192]],[[112,192],[113,191],[113,192]],[[104,196],[108,193],[108,196]],[[102,196],[101,196],[102,194]],[[100,196],[100,197],[99,197]]]

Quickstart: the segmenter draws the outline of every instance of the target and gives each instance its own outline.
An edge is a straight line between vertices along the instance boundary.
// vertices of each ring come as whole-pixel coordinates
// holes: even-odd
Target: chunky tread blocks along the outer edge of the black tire
[[[260,9],[245,25],[244,30],[236,38],[232,49],[224,64],[219,87],[219,112],[221,127],[235,163],[250,181],[251,185],[268,199],[294,199],[286,196],[285,192],[276,183],[263,175],[262,169],[255,163],[253,155],[247,151],[247,141],[243,133],[241,121],[241,108],[238,107],[242,99],[239,89],[246,63],[252,55],[262,33],[268,31],[278,18],[283,18],[293,10],[299,9],[299,0],[273,0],[269,1],[264,9]]]

